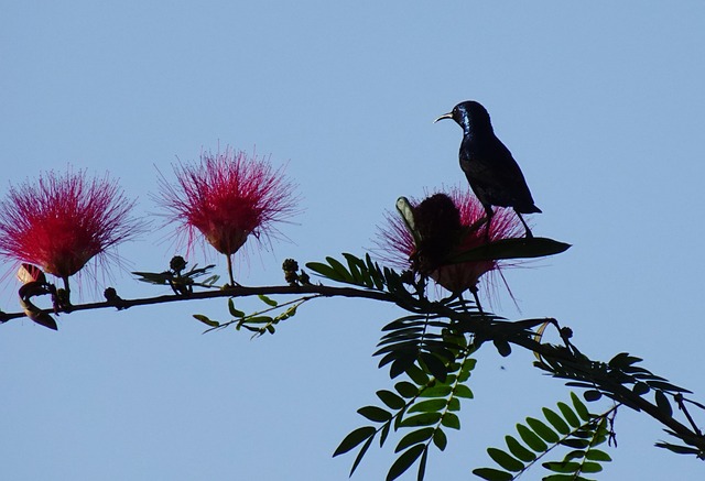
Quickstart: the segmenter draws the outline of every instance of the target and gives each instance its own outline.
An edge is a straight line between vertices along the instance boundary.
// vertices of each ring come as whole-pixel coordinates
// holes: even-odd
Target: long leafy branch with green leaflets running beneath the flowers
[[[487,259],[487,255],[531,256],[558,253],[567,244],[550,239],[514,239],[499,247],[482,247],[462,253],[460,262]],[[135,272],[139,280],[154,285],[169,285],[174,295],[147,299],[122,299],[117,292],[106,289],[107,303],[70,305],[62,302],[61,291],[45,278],[26,277],[21,288],[24,313],[0,313],[0,321],[30,316],[36,323],[55,328],[45,319],[50,314],[88,308],[128,308],[156,302],[226,297],[231,319],[218,321],[205,315],[193,317],[209,330],[235,327],[252,332],[253,337],[274,334],[278,325],[291,319],[301,306],[312,299],[347,296],[393,303],[406,314],[382,328],[373,356],[379,367],[389,370],[392,385],[377,391],[379,403],[358,409],[365,425],[354,429],[339,444],[334,456],[356,451],[352,474],[369,448],[377,440],[380,448],[390,438],[397,438],[395,459],[387,479],[394,480],[416,464],[416,478],[424,479],[429,456],[445,450],[452,429],[460,428],[458,416],[462,400],[473,398],[470,373],[476,368],[474,354],[485,346],[492,346],[502,357],[514,348],[532,351],[534,365],[566,385],[583,390],[588,402],[608,398],[611,405],[601,414],[590,414],[575,394],[572,403],[560,402],[557,408],[542,409],[544,419],[527,417],[517,425],[517,434],[506,436],[506,448],[489,448],[496,462],[494,468],[477,468],[473,472],[486,480],[511,480],[538,466],[547,470],[545,480],[588,480],[611,460],[604,445],[614,438],[614,419],[618,407],[642,412],[664,426],[675,439],[659,441],[657,447],[674,453],[705,459],[705,437],[690,409],[705,411],[705,405],[686,397],[690,391],[671,383],[642,367],[642,359],[627,352],[609,361],[590,359],[573,343],[573,332],[551,318],[507,320],[485,311],[474,300],[462,295],[445,298],[427,296],[427,278],[409,272],[397,272],[380,266],[369,254],[364,259],[343,254],[343,261],[326,258],[325,262],[310,262],[306,267],[327,282],[351,287],[312,283],[308,274],[299,269],[296,261],[284,261],[286,286],[243,287],[228,284],[217,287],[217,275],[209,275],[213,265],[186,269],[186,261],[176,256],[170,269],[160,273]],[[40,271],[41,272],[41,271]],[[205,280],[199,281],[200,277]],[[205,289],[197,292],[196,289]],[[272,294],[295,295],[280,302]],[[53,309],[41,309],[32,304],[40,295],[51,295]],[[236,298],[257,295],[264,307],[247,314],[236,307]],[[551,329],[560,342],[551,343],[545,337]],[[676,419],[681,418],[681,420]],[[549,455],[558,458],[549,459]]]

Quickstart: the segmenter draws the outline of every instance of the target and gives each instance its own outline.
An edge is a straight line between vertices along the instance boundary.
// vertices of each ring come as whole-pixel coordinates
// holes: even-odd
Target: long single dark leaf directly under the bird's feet
[[[542,237],[501,239],[454,255],[448,260],[448,263],[455,264],[469,261],[543,258],[546,255],[560,254],[570,248],[571,244]]]

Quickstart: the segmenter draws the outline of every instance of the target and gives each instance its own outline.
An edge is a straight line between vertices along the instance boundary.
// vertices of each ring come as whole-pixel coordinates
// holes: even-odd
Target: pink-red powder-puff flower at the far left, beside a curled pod
[[[85,172],[51,171],[10,187],[0,203],[0,254],[67,283],[88,261],[105,261],[110,248],[139,232],[141,225],[129,217],[133,205],[107,176],[88,181]]]

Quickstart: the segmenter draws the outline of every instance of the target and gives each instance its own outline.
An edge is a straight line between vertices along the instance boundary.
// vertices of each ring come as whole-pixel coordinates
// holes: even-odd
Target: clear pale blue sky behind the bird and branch
[[[555,317],[589,356],[643,357],[703,402],[704,45],[699,1],[4,0],[0,195],[70,164],[109,172],[154,217],[156,168],[256,147],[288,163],[305,212],[282,226],[290,242],[238,275],[281,284],[283,259],[362,254],[399,196],[463,185],[460,129],[432,122],[476,99],[544,212],[534,233],[573,244],[505,271],[520,310],[501,285],[494,309]],[[121,245],[128,270],[165,269],[167,233]],[[166,293],[127,272],[112,284],[123,297]],[[2,310],[18,310],[17,288],[2,285]],[[194,313],[228,318],[216,300],[76,313],[57,332],[0,326],[0,478],[347,479],[354,456],[330,455],[392,385],[371,353],[402,313],[323,299],[257,340],[203,336]],[[568,398],[530,353],[477,358],[476,398],[432,452],[430,480],[475,479],[491,464],[485,448]],[[665,436],[646,415],[620,409],[616,430],[599,479],[703,478],[702,462],[652,447]],[[354,479],[383,479],[393,446],[370,449]]]

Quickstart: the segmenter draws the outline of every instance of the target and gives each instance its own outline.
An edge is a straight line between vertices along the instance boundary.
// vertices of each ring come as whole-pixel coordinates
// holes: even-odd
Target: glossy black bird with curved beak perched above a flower
[[[487,212],[487,233],[495,212],[492,206],[513,207],[519,220],[532,237],[522,214],[541,212],[533,204],[524,176],[509,149],[497,139],[489,113],[474,100],[458,103],[453,111],[438,117],[453,119],[463,128],[460,168],[465,172],[473,192]]]

